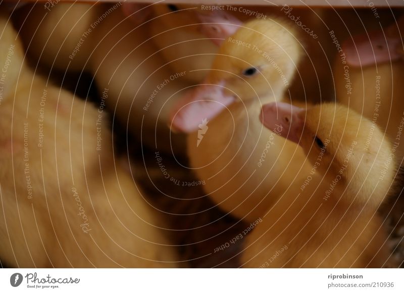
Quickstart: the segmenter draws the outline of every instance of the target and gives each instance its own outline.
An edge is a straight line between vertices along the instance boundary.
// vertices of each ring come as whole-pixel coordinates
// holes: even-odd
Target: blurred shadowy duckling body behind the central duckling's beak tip
[[[188,86],[187,71],[176,75],[153,40],[145,40],[148,28],[134,29],[123,19],[118,10],[99,25],[90,59],[97,86],[108,89],[106,104],[128,132],[151,148],[180,152],[184,136],[172,134],[170,141],[167,122],[172,104]]]

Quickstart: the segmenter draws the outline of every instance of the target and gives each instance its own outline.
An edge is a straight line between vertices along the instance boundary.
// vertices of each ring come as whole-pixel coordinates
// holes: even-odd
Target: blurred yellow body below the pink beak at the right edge
[[[335,82],[337,101],[385,129],[396,144],[396,156],[403,161],[404,143],[400,140],[404,129],[404,103],[401,99],[404,93],[401,83],[404,61],[398,59],[373,65],[350,66],[349,79],[352,86],[349,94],[345,89],[346,81],[342,78],[344,69],[339,62],[335,63],[334,74],[340,77]]]

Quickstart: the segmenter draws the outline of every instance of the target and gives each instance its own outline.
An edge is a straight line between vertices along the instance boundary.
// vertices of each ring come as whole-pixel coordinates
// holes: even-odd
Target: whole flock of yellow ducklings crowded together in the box
[[[129,136],[141,145],[138,159],[152,150],[168,184],[200,185],[245,224],[233,244],[209,254],[238,242],[242,267],[402,264],[380,213],[400,188],[404,156],[397,30],[390,23],[385,42],[380,35],[343,42],[348,32],[320,29],[327,12],[294,10],[318,27],[328,58],[337,54],[327,69],[318,40],[284,11],[251,9],[265,17],[133,3],[2,9],[5,265],[190,266],[170,236],[178,228],[166,227],[166,213],[133,179],[140,171],[117,155]],[[394,53],[386,58],[386,50]],[[99,100],[54,85],[39,64],[87,72]],[[127,131],[126,141],[111,127]],[[183,168],[196,183],[175,178],[169,156],[178,165],[187,157]]]

